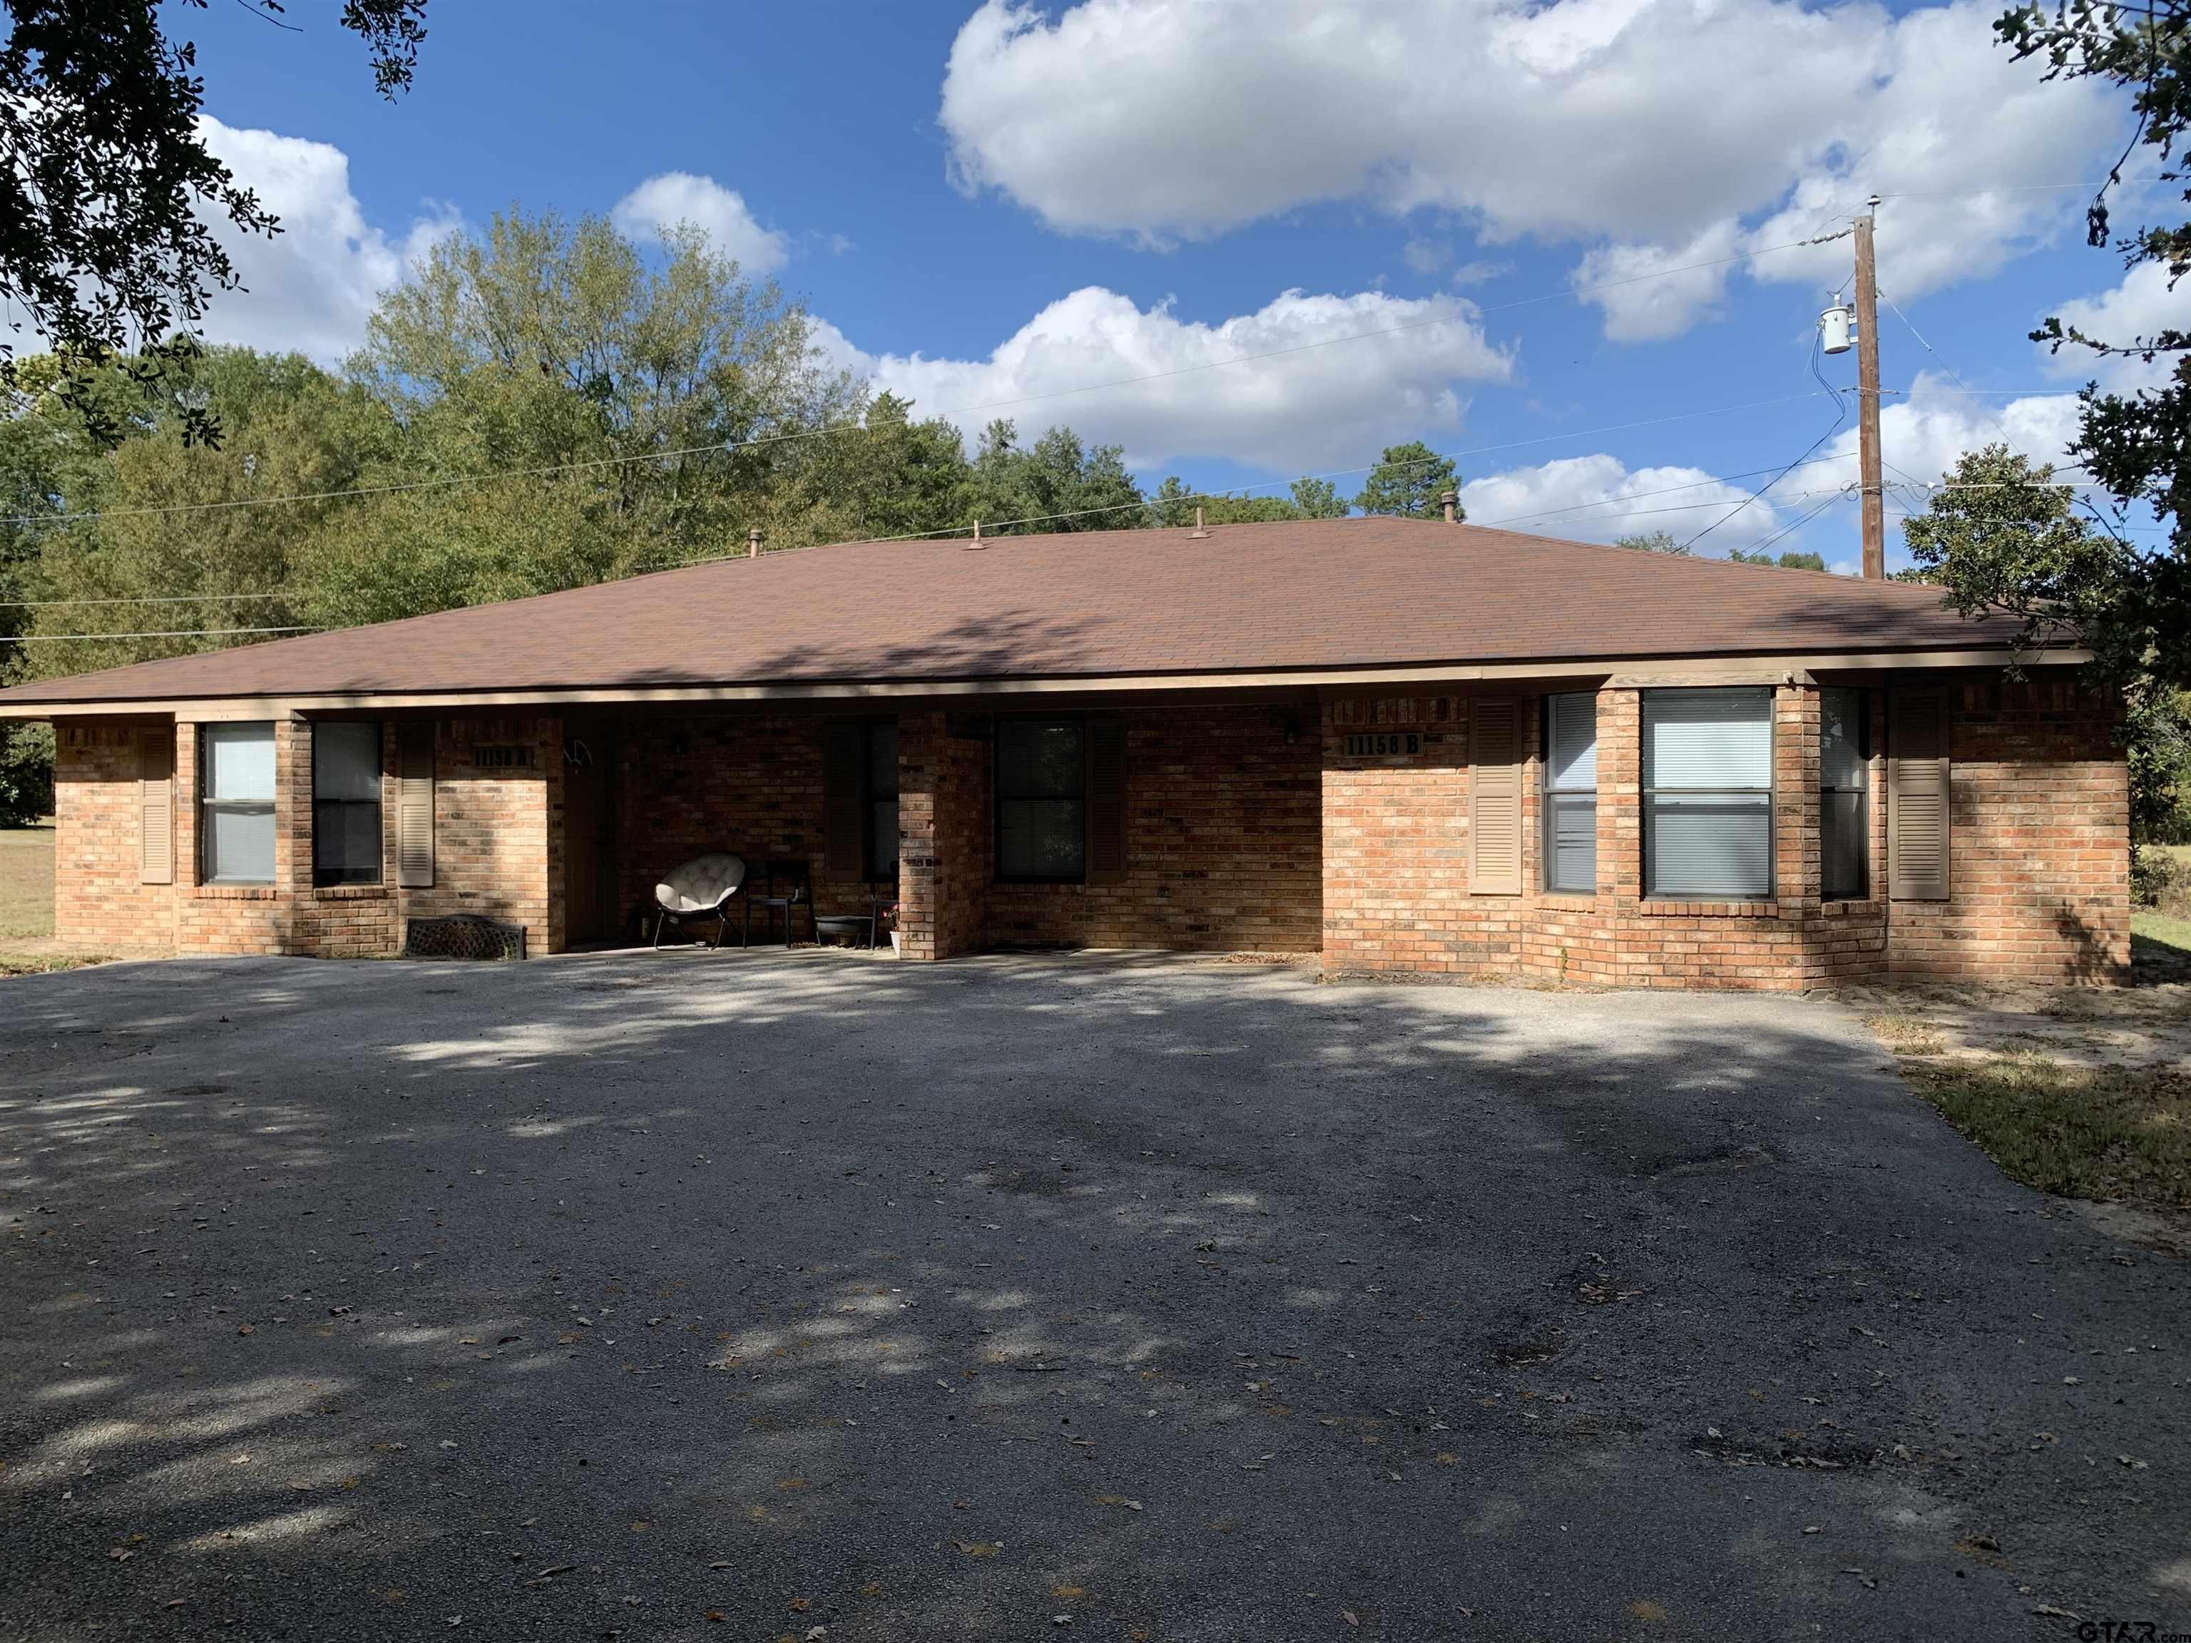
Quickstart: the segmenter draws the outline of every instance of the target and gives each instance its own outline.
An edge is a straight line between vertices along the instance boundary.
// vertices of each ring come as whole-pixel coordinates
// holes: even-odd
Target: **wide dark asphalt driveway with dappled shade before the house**
[[[0,1233],[9,1636],[2191,1630],[2191,1268],[1823,1001],[110,966]]]

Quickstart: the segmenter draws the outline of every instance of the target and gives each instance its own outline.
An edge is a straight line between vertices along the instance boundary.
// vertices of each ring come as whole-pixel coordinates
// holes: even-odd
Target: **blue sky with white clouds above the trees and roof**
[[[1812,331],[1849,241],[1770,248],[1889,195],[1880,278],[1915,326],[1882,313],[1884,381],[1911,390],[1891,480],[2003,425],[2060,453],[2075,379],[2024,342],[2040,315],[2180,313],[2086,250],[2084,193],[2053,186],[2106,173],[2121,105],[2009,64],[1996,11],[436,0],[394,105],[329,4],[291,7],[302,33],[239,4],[171,24],[199,42],[215,147],[289,223],[241,248],[221,340],[335,361],[425,237],[513,202],[642,241],[675,212],[920,407],[1052,394],[1010,412],[1023,432],[1071,423],[1150,480],[1350,471],[1424,438],[1461,453],[1485,524],[1727,517],[1705,548],[1786,530],[1847,565],[1847,423],[1832,464],[1731,513],[1836,414]],[[1854,355],[1823,370],[1849,386]]]

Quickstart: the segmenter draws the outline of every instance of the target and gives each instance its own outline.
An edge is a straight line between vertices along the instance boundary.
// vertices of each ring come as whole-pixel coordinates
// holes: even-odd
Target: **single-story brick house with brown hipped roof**
[[[725,559],[0,690],[64,938],[633,929],[734,850],[903,951],[1621,986],[2119,977],[2119,708],[1937,589],[1415,519]]]

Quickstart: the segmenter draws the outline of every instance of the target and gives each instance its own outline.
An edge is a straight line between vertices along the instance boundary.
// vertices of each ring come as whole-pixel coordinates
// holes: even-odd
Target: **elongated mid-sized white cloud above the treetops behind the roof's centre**
[[[1315,346],[1337,337],[1363,340]],[[1301,471],[1330,462],[1332,451],[1376,451],[1457,427],[1455,383],[1512,375],[1512,357],[1485,342],[1466,298],[1383,291],[1284,291],[1255,313],[1203,324],[1166,302],[1142,309],[1091,285],[1052,302],[986,359],[868,355],[833,326],[819,342],[833,364],[909,397],[920,414],[955,412],[968,434],[993,416],[1019,421],[1023,434],[1071,423],[1089,443],[1124,445],[1137,469],[1225,458]],[[1063,397],[1012,403],[1034,394]]]

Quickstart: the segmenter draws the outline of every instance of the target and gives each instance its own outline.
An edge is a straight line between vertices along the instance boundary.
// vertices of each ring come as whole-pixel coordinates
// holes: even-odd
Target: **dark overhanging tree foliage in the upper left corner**
[[[204,9],[204,0],[188,0]],[[0,390],[15,390],[15,335],[64,359],[125,361],[145,381],[182,359],[217,289],[237,287],[213,217],[245,234],[278,221],[204,142],[197,48],[171,39],[158,0],[0,0],[0,298],[24,320],[0,337]],[[272,15],[276,0],[254,0]],[[405,90],[425,0],[344,0],[383,96]],[[70,388],[64,379],[64,392]],[[88,399],[96,405],[96,399]],[[99,436],[116,427],[88,423]],[[184,407],[193,438],[217,423]]]

